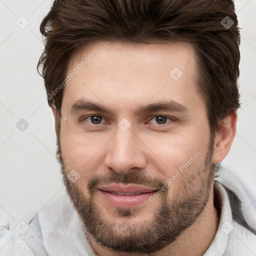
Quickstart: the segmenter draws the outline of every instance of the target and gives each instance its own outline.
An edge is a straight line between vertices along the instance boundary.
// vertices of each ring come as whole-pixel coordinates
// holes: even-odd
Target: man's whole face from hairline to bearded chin
[[[57,131],[63,178],[88,234],[104,246],[160,250],[208,201],[213,144],[194,54],[180,43],[98,42],[70,61]]]

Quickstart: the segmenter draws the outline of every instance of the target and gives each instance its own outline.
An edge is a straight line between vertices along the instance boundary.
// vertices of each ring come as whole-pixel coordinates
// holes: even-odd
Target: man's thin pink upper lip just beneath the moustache
[[[135,184],[111,184],[111,185],[102,185],[98,187],[104,191],[113,191],[113,192],[121,192],[121,193],[148,193],[157,190],[157,188],[148,188],[146,186],[135,185]]]

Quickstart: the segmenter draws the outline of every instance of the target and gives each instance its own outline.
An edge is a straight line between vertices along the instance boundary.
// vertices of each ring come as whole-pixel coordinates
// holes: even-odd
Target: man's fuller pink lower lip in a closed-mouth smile
[[[156,190],[136,195],[117,195],[108,193],[101,189],[99,189],[99,192],[103,195],[104,199],[112,206],[119,208],[130,208],[137,206],[147,200],[151,195],[156,192]]]

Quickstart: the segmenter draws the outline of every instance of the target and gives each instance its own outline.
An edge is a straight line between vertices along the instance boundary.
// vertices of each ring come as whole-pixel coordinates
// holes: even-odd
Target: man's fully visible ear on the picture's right
[[[237,112],[229,113],[219,123],[219,132],[215,137],[212,163],[221,162],[230,150],[236,132]]]

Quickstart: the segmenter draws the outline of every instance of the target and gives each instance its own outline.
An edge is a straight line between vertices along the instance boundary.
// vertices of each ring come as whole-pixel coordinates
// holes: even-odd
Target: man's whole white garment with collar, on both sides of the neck
[[[204,256],[256,255],[256,183],[224,169],[215,178],[220,220]],[[48,203],[29,223],[17,215],[0,224],[0,256],[93,256],[67,194]]]

